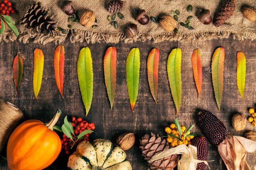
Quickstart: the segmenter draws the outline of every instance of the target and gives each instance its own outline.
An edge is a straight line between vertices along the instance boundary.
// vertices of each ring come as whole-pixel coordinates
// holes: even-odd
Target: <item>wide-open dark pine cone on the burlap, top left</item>
[[[26,26],[29,30],[36,29],[37,32],[51,33],[54,31],[54,25],[56,24],[53,20],[54,15],[49,16],[48,11],[45,7],[41,7],[40,2],[35,2],[20,18],[23,26]]]

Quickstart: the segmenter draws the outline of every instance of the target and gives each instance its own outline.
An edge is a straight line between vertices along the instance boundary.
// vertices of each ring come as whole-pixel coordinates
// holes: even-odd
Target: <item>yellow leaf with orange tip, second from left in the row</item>
[[[37,96],[40,91],[42,77],[43,77],[44,55],[40,49],[34,51],[34,74],[33,74],[33,87],[34,93]]]

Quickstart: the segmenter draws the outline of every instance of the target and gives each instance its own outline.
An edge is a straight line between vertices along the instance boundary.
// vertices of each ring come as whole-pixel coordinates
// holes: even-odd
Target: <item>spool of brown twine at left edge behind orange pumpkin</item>
[[[0,151],[22,117],[23,113],[17,106],[0,100]]]

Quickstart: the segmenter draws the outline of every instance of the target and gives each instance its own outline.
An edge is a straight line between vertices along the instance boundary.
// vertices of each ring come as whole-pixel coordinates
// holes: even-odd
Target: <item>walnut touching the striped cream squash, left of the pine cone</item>
[[[123,150],[130,149],[135,143],[135,135],[132,132],[126,132],[117,138],[117,145]]]

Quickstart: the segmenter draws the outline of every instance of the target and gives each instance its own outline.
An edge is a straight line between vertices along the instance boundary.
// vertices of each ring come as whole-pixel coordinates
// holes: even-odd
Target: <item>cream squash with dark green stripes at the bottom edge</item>
[[[132,170],[124,150],[105,139],[96,139],[92,144],[81,142],[70,155],[67,167],[70,170]]]

